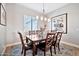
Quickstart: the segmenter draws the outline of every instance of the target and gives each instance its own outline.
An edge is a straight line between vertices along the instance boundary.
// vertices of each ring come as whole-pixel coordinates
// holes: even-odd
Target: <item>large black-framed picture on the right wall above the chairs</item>
[[[52,30],[67,34],[67,13],[52,17]]]

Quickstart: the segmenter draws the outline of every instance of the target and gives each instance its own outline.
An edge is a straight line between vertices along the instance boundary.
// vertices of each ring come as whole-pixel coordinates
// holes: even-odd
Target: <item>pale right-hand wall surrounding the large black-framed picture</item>
[[[79,4],[68,4],[48,14],[53,17],[63,13],[68,13],[68,32],[63,35],[62,41],[79,45]]]

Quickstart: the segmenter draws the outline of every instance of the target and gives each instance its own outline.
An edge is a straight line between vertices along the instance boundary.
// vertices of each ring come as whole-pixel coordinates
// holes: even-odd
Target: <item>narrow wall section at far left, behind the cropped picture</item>
[[[3,4],[3,6],[5,8],[6,4]],[[0,25],[0,55],[2,54],[5,45],[6,45],[6,26]]]

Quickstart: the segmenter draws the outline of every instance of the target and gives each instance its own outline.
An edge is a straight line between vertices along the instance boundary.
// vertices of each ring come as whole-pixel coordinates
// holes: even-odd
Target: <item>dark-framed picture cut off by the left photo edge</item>
[[[0,24],[6,26],[6,11],[2,3],[0,3]]]

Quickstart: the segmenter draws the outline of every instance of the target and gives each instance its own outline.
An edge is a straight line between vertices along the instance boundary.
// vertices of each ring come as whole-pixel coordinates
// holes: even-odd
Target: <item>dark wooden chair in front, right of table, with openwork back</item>
[[[37,48],[44,51],[44,56],[46,55],[46,51],[50,49],[50,53],[52,56],[52,42],[55,37],[55,33],[47,33],[45,42],[39,43]]]

